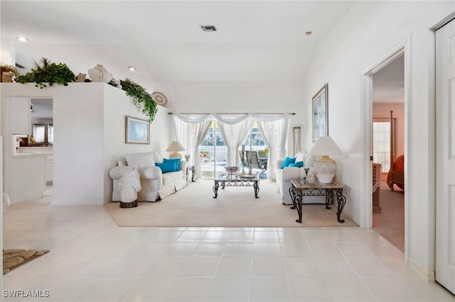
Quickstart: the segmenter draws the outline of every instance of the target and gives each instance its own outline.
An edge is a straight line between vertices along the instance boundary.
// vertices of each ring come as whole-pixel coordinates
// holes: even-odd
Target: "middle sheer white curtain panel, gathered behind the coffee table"
[[[238,147],[250,133],[252,119],[248,114],[215,114],[221,135],[228,146],[228,166],[240,164]]]

